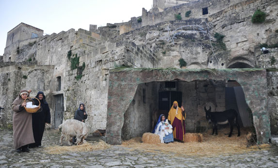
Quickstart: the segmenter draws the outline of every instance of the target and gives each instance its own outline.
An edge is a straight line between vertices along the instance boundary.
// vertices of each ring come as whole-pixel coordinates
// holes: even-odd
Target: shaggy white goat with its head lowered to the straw
[[[60,138],[60,144],[63,145],[63,138],[67,141],[68,145],[70,144],[70,139],[72,137],[76,137],[76,143],[81,144],[82,142],[86,142],[84,140],[88,135],[88,129],[84,122],[80,122],[74,119],[68,119],[59,125],[59,129],[62,127],[62,135]]]

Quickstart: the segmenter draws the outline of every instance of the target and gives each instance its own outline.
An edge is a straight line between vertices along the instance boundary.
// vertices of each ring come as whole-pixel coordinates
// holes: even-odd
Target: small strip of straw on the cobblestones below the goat
[[[95,143],[83,143],[81,145],[74,146],[49,146],[45,148],[45,151],[49,154],[61,154],[68,152],[88,152],[95,150],[104,150],[108,148],[110,148],[110,145],[101,140]]]

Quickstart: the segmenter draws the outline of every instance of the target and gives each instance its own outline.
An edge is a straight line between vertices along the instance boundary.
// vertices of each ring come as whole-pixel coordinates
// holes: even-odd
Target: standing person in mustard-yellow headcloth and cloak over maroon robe
[[[182,142],[184,142],[185,134],[185,115],[184,108],[182,106],[179,107],[178,102],[174,101],[168,113],[168,121],[171,121],[171,125],[173,126],[174,139],[178,139]]]

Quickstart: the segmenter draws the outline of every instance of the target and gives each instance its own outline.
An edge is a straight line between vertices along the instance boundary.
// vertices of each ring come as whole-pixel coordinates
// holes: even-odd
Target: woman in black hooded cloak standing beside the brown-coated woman
[[[32,126],[35,143],[30,144],[29,148],[41,147],[45,123],[50,123],[50,110],[44,92],[38,92],[36,98],[39,99],[41,103],[42,111],[33,113],[32,115]],[[33,99],[35,105],[39,105],[37,99]]]

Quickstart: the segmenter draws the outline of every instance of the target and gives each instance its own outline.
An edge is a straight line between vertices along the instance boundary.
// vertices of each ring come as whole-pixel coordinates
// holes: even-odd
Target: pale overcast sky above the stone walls
[[[152,0],[0,0],[0,55],[7,32],[23,22],[46,34],[121,23],[149,11]]]

